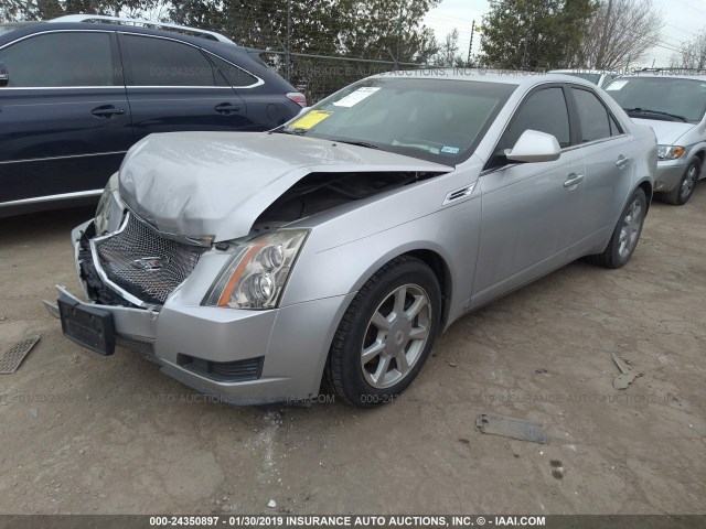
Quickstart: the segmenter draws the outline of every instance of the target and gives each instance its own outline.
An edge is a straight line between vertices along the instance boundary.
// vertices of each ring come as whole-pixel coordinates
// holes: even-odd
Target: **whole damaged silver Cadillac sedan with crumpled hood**
[[[656,142],[560,75],[370,77],[265,133],[137,143],[72,234],[68,338],[238,404],[372,407],[463,314],[585,256],[620,268]]]

